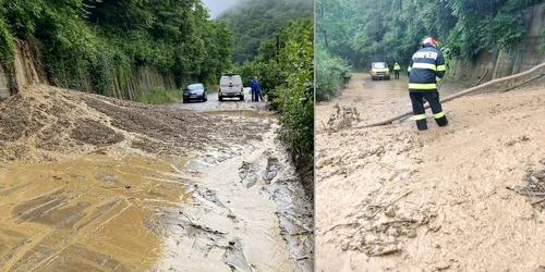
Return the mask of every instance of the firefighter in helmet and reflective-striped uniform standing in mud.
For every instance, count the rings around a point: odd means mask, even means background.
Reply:
[[[424,110],[425,100],[429,102],[437,125],[446,126],[448,124],[437,91],[437,82],[443,78],[445,71],[445,59],[437,49],[437,41],[432,37],[425,38],[422,41],[422,48],[412,55],[407,70],[409,96],[419,131],[427,129],[426,112]]]

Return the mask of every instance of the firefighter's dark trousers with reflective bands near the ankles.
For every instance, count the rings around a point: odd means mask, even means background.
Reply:
[[[414,120],[416,121],[416,127],[419,131],[427,129],[426,124],[426,112],[424,110],[423,98],[425,98],[429,102],[429,108],[432,108],[432,112],[434,113],[435,122],[439,126],[446,126],[448,124],[447,115],[443,112],[443,107],[439,102],[439,91],[437,89],[426,90],[423,92],[409,92],[411,97],[412,103],[412,112],[414,114]]]

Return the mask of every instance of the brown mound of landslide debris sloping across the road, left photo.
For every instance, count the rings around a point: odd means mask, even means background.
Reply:
[[[265,121],[264,121],[265,122]],[[0,161],[80,153],[187,156],[229,152],[267,125],[33,85],[0,102]]]

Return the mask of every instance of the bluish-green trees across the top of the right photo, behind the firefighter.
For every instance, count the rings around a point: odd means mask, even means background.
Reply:
[[[517,51],[525,33],[522,10],[540,0],[317,0],[316,42],[354,69],[385,54],[407,65],[420,41],[433,36],[452,58],[483,49]]]

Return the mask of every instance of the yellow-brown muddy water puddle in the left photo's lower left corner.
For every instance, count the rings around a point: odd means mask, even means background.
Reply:
[[[166,162],[85,157],[0,169],[1,271],[146,271],[161,254],[156,211],[184,196]]]

